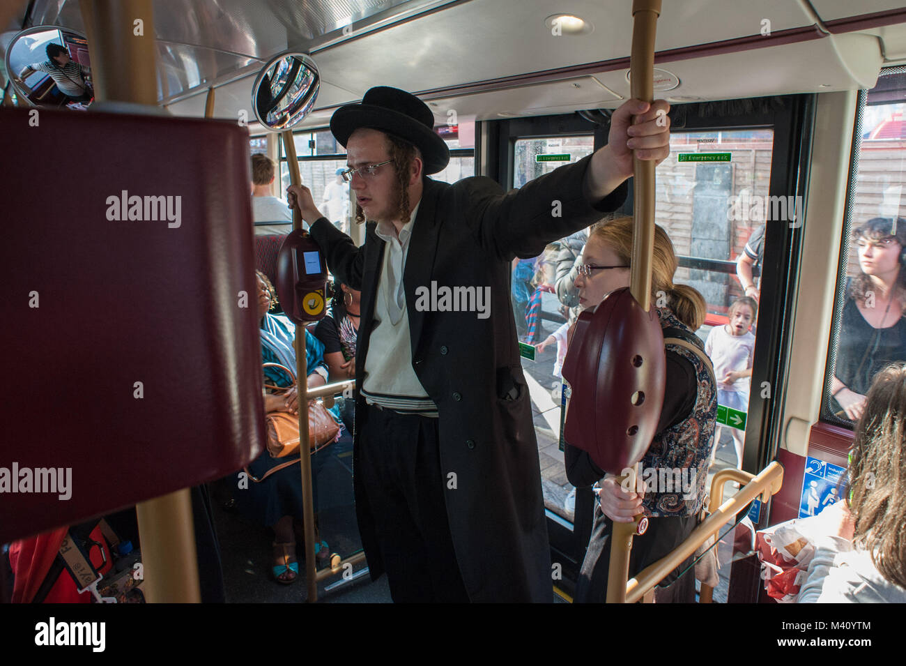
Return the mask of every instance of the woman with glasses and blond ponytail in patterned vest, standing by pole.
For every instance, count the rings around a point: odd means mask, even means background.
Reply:
[[[581,307],[595,307],[614,289],[630,285],[631,250],[631,217],[618,217],[593,230],[583,253],[585,263],[580,266],[575,281]],[[653,472],[652,486],[660,486],[656,479],[661,469],[679,470],[682,482],[679,488],[673,487],[675,477],[672,477],[670,487],[664,484],[664,487],[646,487],[643,492],[627,492],[616,477],[605,476],[588,453],[566,444],[566,476],[573,486],[590,486],[602,479],[599,487],[595,487],[598,506],[594,511],[591,542],[576,584],[577,603],[603,602],[606,597],[613,522],[631,522],[632,516],[638,514],[650,517],[648,531],[633,539],[630,576],[670,553],[699,523],[708,461],[714,446],[717,386],[703,345],[693,333],[704,322],[705,300],[692,287],[673,284],[677,265],[670,238],[661,227],[655,227],[651,306],[657,309],[665,338],[684,339],[699,351],[675,343],[666,345],[664,406],[651,447],[641,458],[640,474],[642,478],[651,478]],[[691,560],[689,557],[664,580],[663,585],[670,584],[668,589],[656,590],[658,603],[695,600],[694,574],[690,572],[676,581],[680,573],[689,569]]]

